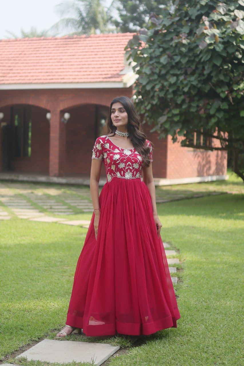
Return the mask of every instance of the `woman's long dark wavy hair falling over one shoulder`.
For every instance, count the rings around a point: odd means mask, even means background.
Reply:
[[[143,164],[145,167],[149,167],[149,153],[150,148],[146,145],[146,135],[143,132],[143,128],[141,126],[140,118],[136,112],[136,108],[134,107],[133,102],[128,97],[116,97],[112,100],[110,104],[110,115],[108,117],[108,130],[109,134],[113,133],[115,135],[115,131],[117,128],[113,126],[111,119],[111,110],[112,105],[114,103],[121,103],[126,110],[128,115],[128,132],[130,134],[130,139],[134,148],[138,151],[138,153],[143,158]]]

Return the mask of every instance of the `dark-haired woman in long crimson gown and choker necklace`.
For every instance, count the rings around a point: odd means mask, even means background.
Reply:
[[[111,102],[110,133],[93,147],[90,191],[94,213],[74,276],[64,337],[148,335],[180,318],[160,238],[152,147],[132,101]],[[99,196],[104,163],[107,183]],[[143,182],[141,180],[143,176]]]

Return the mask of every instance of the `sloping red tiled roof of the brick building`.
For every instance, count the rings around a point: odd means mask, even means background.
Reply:
[[[121,82],[133,33],[0,40],[0,84]]]

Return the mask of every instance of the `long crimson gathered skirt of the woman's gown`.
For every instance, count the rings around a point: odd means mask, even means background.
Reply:
[[[141,179],[113,179],[99,196],[74,276],[66,324],[87,336],[148,335],[180,318],[151,196]]]

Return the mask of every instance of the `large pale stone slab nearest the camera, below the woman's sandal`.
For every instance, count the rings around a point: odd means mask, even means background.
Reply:
[[[94,361],[94,366],[99,366],[119,348],[119,346],[104,343],[44,339],[16,358],[26,357],[28,361],[38,360],[58,363]]]

